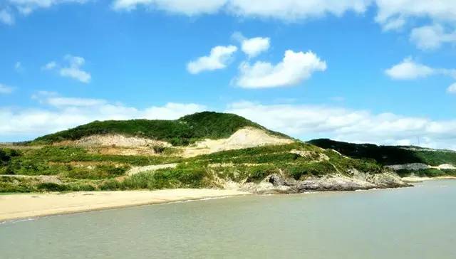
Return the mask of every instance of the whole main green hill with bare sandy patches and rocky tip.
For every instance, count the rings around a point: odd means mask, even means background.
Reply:
[[[0,147],[0,192],[237,189],[254,193],[408,186],[373,160],[343,157],[243,117],[91,122]]]

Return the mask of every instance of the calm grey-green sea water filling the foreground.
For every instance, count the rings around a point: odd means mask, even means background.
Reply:
[[[456,181],[0,224],[0,258],[456,258]]]

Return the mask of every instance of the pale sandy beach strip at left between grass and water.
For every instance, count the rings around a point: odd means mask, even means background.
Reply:
[[[79,191],[63,194],[7,194],[0,195],[0,221],[246,194],[249,193],[216,189]]]

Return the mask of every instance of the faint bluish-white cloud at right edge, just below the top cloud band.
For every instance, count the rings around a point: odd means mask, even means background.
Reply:
[[[434,50],[440,48],[443,43],[456,43],[456,31],[447,33],[439,24],[422,26],[412,30],[410,41],[420,49]]]

